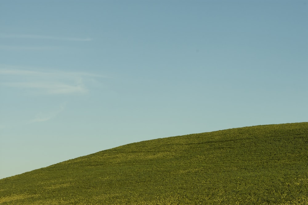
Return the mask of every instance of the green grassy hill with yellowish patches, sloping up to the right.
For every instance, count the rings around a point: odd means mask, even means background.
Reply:
[[[1,179],[0,204],[308,204],[308,123],[104,150]]]

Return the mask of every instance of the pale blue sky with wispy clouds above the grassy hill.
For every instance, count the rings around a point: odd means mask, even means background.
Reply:
[[[308,121],[307,0],[1,0],[0,179]]]

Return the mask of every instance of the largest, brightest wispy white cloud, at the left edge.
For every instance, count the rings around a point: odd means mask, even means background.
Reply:
[[[2,86],[39,91],[42,94],[87,93],[85,81],[91,82],[94,77],[105,77],[93,73],[18,69],[9,66],[0,66],[0,75],[10,76],[7,78],[10,80],[0,83]]]

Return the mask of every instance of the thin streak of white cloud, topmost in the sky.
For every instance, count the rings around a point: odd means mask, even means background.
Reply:
[[[28,38],[28,39],[47,39],[58,41],[92,41],[92,38],[76,38],[76,37],[56,37],[32,34],[0,34],[0,38]]]

